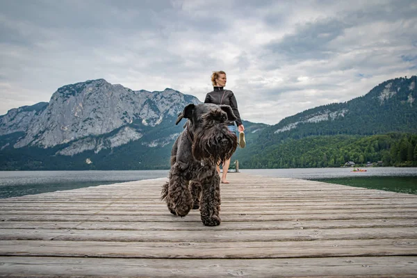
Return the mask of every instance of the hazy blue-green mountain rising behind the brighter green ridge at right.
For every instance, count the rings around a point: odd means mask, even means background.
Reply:
[[[337,104],[318,106],[268,126],[245,152],[236,154],[240,165],[254,167],[254,161],[271,157],[277,146],[312,136],[373,136],[391,132],[417,133],[417,77],[391,79],[366,95]],[[355,137],[356,138],[356,137]],[[329,140],[329,139],[324,139]],[[343,139],[345,140],[345,139]],[[305,140],[303,141],[305,143]],[[289,147],[289,146],[288,146]],[[295,149],[288,149],[289,153]],[[304,152],[307,150],[304,149]],[[280,151],[281,152],[281,151]],[[284,158],[283,158],[284,159]],[[268,163],[256,167],[270,167]],[[278,165],[278,164],[277,164]],[[279,166],[278,166],[279,167]]]

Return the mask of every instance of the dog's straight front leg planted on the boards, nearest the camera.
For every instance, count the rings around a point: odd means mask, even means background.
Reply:
[[[202,222],[206,226],[220,225],[220,177],[215,170],[202,181],[202,200],[200,212]]]

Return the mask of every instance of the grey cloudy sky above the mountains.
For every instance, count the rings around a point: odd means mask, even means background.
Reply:
[[[276,124],[416,75],[417,1],[0,0],[0,61],[0,115],[100,78],[204,101],[224,70]]]

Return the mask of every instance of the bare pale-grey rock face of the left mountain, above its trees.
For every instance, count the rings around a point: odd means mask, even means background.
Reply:
[[[197,98],[186,97],[170,88],[151,93],[133,91],[120,84],[112,85],[105,79],[88,80],[58,88],[49,104],[38,115],[32,113],[25,126],[10,129],[10,120],[3,120],[0,127],[5,130],[3,133],[6,130],[25,132],[14,147],[54,147],[106,133],[112,133],[109,145],[113,146],[115,138],[122,143],[138,140],[142,128],[156,126],[164,118],[176,116],[190,99],[199,103]],[[13,113],[10,113],[12,116]],[[121,135],[117,137],[113,134],[116,131],[120,131]]]

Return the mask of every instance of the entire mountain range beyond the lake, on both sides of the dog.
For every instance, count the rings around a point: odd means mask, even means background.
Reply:
[[[272,126],[244,121],[247,147],[232,160],[242,168],[336,167],[382,158],[415,165],[416,81],[391,79],[362,97]],[[168,169],[172,143],[183,130],[174,122],[190,103],[200,101],[170,88],[133,91],[104,79],[65,85],[49,103],[0,116],[0,170]],[[379,136],[392,132],[411,136]]]

